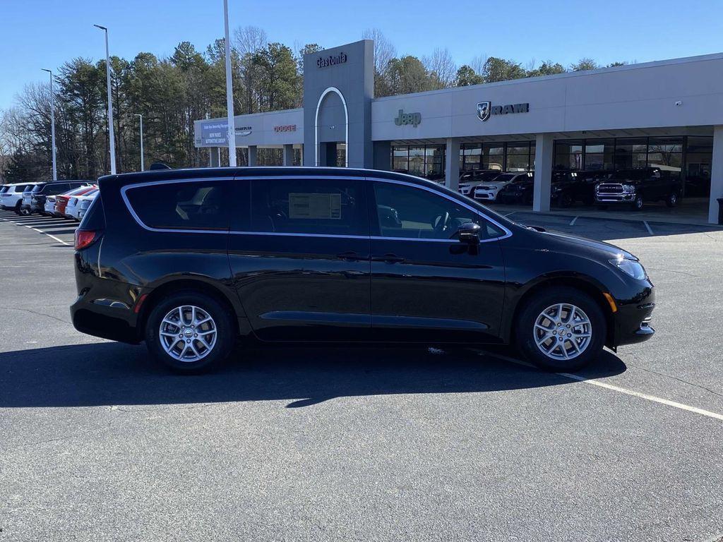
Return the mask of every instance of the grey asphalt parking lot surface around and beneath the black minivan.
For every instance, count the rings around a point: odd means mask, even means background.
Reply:
[[[73,223],[0,211],[0,542],[723,538],[723,231],[513,218],[641,257],[656,336],[568,376],[335,347],[179,377],[74,331]]]

